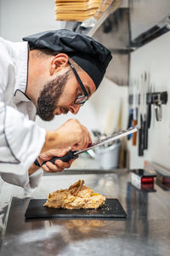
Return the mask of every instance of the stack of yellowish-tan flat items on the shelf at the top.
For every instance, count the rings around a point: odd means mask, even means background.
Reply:
[[[96,14],[102,0],[55,0],[55,20],[88,20]]]

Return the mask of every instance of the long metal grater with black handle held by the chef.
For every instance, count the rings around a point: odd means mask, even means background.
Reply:
[[[105,138],[97,140],[97,142],[90,144],[89,147],[86,149],[76,150],[76,151],[69,150],[64,156],[61,156],[61,157],[56,156],[48,161],[50,161],[53,164],[54,164],[55,160],[62,160],[63,162],[69,162],[70,160],[76,159],[79,154],[82,154],[90,149],[99,147],[105,143],[111,143],[117,139],[120,139],[121,137],[125,137],[129,134],[132,134],[133,132],[136,132],[136,131],[138,131],[137,125],[130,127],[127,130],[118,131],[118,132],[113,133],[111,136],[107,136]],[[45,165],[48,161],[43,162],[42,165]]]

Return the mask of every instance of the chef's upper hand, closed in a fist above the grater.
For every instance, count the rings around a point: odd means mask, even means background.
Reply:
[[[42,152],[51,148],[85,149],[88,148],[89,143],[91,143],[91,137],[88,129],[77,119],[68,119],[57,130],[47,131]]]

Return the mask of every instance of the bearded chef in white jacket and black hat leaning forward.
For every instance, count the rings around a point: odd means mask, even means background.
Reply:
[[[31,191],[42,171],[71,166],[71,161],[47,160],[91,142],[77,119],[45,131],[34,122],[36,114],[46,121],[69,111],[76,114],[99,87],[111,52],[93,38],[66,29],[23,40],[0,38],[0,175]]]

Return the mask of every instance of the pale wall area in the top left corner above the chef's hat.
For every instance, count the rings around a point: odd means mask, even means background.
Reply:
[[[65,22],[56,21],[54,0],[0,0],[0,34],[11,41],[26,35],[59,29]]]

